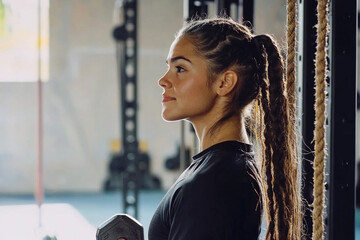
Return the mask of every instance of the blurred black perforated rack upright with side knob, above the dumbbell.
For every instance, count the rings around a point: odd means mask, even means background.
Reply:
[[[126,161],[123,174],[124,212],[138,217],[139,152],[137,138],[137,0],[123,0],[115,28],[121,92],[122,154]]]

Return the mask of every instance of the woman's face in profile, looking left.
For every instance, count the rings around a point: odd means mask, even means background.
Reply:
[[[206,118],[214,106],[216,93],[208,83],[207,62],[196,53],[189,38],[175,39],[166,63],[168,70],[159,79],[163,88],[163,119],[192,122]]]

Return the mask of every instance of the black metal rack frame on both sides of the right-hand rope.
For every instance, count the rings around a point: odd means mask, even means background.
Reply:
[[[302,62],[302,196],[304,203],[303,239],[311,239],[313,203],[312,149],[314,131],[314,77],[316,40],[316,1],[300,1],[299,12],[303,24]],[[355,134],[356,134],[356,72],[357,72],[357,3],[332,0],[330,8],[330,35],[327,79],[328,100],[328,171],[326,183],[327,209],[325,210],[326,239],[354,239],[355,212]],[[301,43],[300,43],[301,44]],[[300,80],[301,81],[301,80]]]

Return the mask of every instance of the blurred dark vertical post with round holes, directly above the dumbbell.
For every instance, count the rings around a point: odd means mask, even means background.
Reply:
[[[123,151],[127,161],[123,202],[126,213],[138,218],[139,164],[137,139],[137,0],[125,1],[125,75],[123,92]]]

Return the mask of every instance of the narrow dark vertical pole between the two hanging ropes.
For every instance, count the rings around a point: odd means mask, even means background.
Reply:
[[[303,24],[303,89],[302,89],[302,197],[304,212],[304,239],[312,236],[312,203],[313,203],[313,149],[314,149],[314,121],[315,121],[315,51],[316,51],[316,1],[303,1],[303,12],[299,12],[299,20]],[[301,43],[299,43],[301,44]]]

